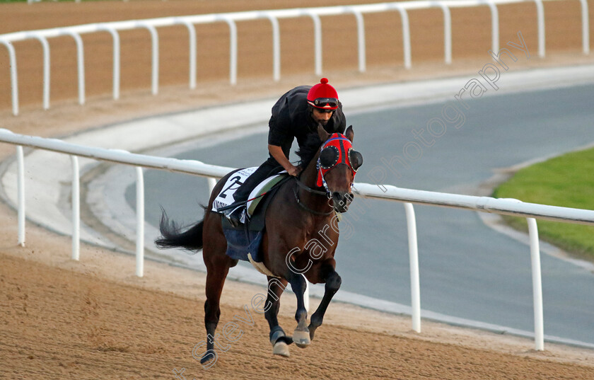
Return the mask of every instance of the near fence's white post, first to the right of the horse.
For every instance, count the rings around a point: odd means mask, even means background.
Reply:
[[[421,284],[419,280],[419,246],[417,244],[417,218],[412,203],[404,203],[407,214],[407,230],[410,261],[410,292],[412,309],[412,330],[421,332]]]

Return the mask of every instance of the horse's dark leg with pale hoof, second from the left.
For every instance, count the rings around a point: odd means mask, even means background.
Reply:
[[[286,336],[284,330],[279,326],[276,316],[279,315],[281,306],[281,294],[286,288],[286,280],[279,280],[268,276],[268,296],[264,306],[264,316],[270,326],[270,342],[272,343],[272,353],[289,357],[289,346],[293,340]]]

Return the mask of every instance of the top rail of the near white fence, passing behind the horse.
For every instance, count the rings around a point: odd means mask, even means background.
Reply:
[[[226,173],[233,170],[233,168],[209,165],[200,161],[133,154],[119,149],[95,148],[71,144],[59,139],[47,139],[43,137],[15,134],[8,129],[0,129],[0,142],[7,142],[21,146],[30,146],[33,148],[45,149],[49,151],[57,151],[63,154],[88,157],[102,161],[141,166],[144,168],[190,173],[204,177],[221,178],[223,175],[226,175]],[[458,195],[444,192],[413,190],[397,188],[392,185],[373,185],[371,183],[356,183],[354,188],[357,195],[368,198],[410,202],[419,205],[434,205],[458,209],[470,209],[480,212],[513,215],[516,217],[594,225],[594,210],[538,205],[535,203],[527,203],[511,199],[497,199],[492,197],[477,197],[472,195]]]

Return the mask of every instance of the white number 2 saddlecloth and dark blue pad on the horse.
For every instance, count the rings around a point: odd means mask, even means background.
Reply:
[[[222,207],[232,205],[233,193],[243,181],[257,168],[245,168],[231,173],[219,195],[216,196],[212,211],[219,212]],[[223,234],[227,239],[226,255],[234,260],[249,261],[257,270],[265,275],[272,275],[264,267],[264,258],[260,253],[262,236],[264,235],[266,209],[280,185],[291,178],[286,172],[272,175],[258,184],[250,193],[250,200],[242,216],[242,222],[234,227],[225,217],[221,217]],[[260,264],[260,265],[258,265]]]

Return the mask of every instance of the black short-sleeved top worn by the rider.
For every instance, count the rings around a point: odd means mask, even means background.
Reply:
[[[310,133],[318,133],[318,123],[310,116],[307,96],[311,86],[298,86],[285,93],[272,107],[272,117],[268,122],[268,144],[280,146],[289,158],[293,139],[301,147]],[[347,120],[342,113],[342,103],[332,113],[324,126],[328,133],[344,133]]]

